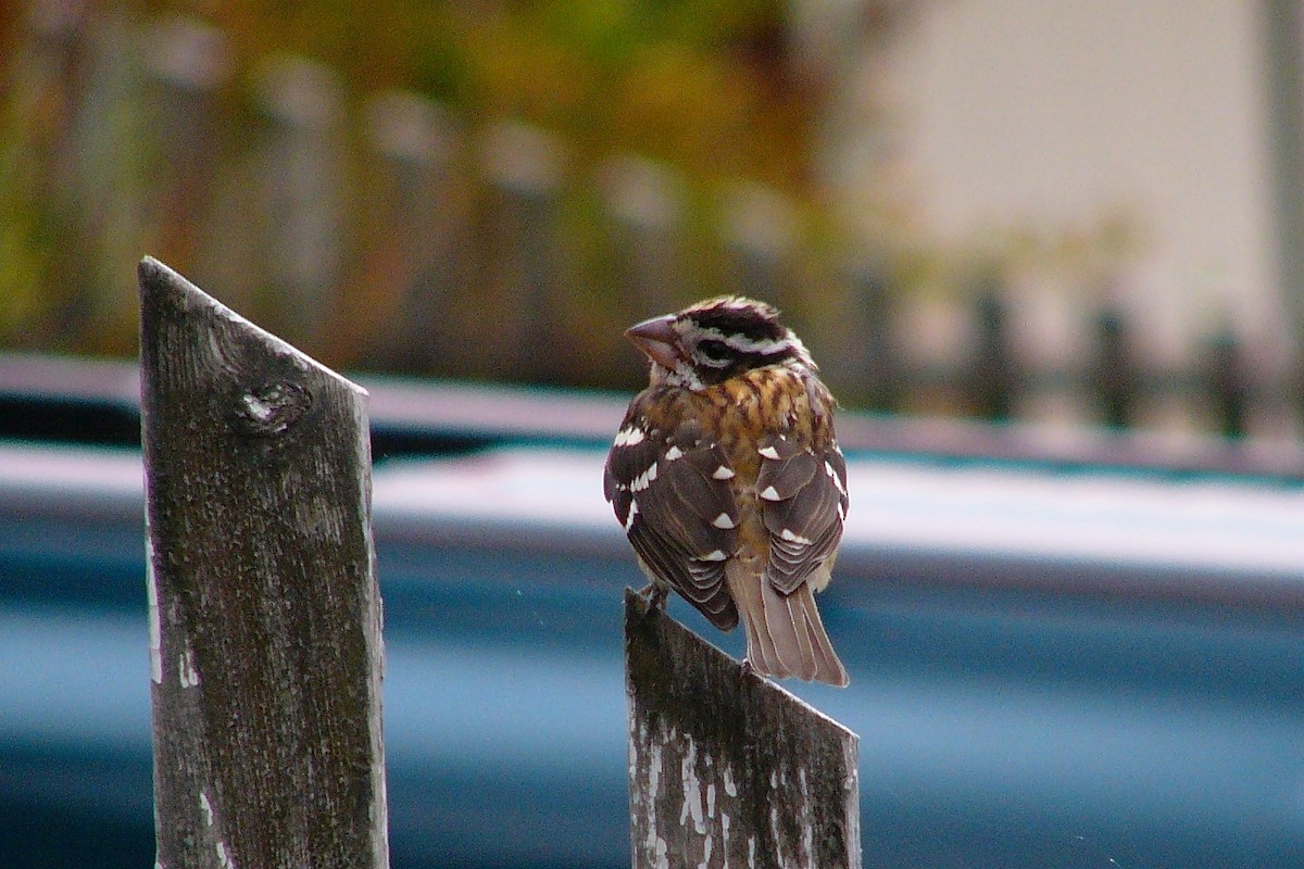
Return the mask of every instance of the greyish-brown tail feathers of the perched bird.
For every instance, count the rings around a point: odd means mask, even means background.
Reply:
[[[785,595],[751,572],[728,571],[726,578],[747,631],[747,662],[752,670],[840,688],[850,681],[824,632],[810,582]]]

